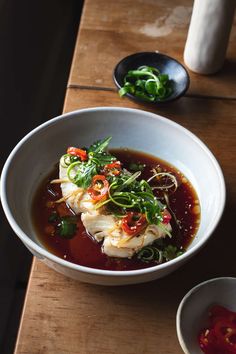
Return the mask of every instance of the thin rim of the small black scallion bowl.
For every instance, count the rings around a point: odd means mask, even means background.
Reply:
[[[148,101],[145,101],[145,100],[142,100],[130,93],[126,93],[125,96],[129,97],[130,99],[132,100],[135,100],[137,102],[143,102],[143,103],[146,103],[146,104],[151,104],[151,105],[156,105],[156,104],[164,104],[164,103],[168,103],[168,102],[172,102],[172,101],[175,101],[177,100],[178,98],[180,98],[181,96],[183,96],[187,90],[189,89],[189,86],[190,86],[190,75],[187,71],[187,69],[185,68],[185,66],[180,63],[177,59],[167,55],[167,54],[164,54],[164,53],[161,53],[161,52],[158,52],[158,51],[154,51],[154,52],[151,52],[151,51],[145,51],[145,52],[136,52],[136,53],[132,53],[132,54],[129,54],[127,55],[126,57],[122,58],[115,66],[114,70],[113,70],[113,81],[115,83],[115,85],[117,86],[118,89],[120,89],[122,86],[120,85],[120,83],[118,82],[118,79],[117,79],[117,70],[119,68],[119,66],[126,62],[128,59],[130,58],[135,58],[136,56],[139,56],[139,55],[156,55],[156,56],[159,56],[159,57],[164,57],[164,58],[167,58],[168,60],[170,61],[174,61],[175,63],[177,63],[179,66],[182,67],[183,71],[185,72],[186,74],[186,78],[187,78],[187,83],[186,83],[186,87],[184,88],[184,90],[182,92],[180,92],[177,96],[171,98],[171,96],[167,97],[165,100],[158,100],[158,101],[155,101],[155,102],[148,102]]]

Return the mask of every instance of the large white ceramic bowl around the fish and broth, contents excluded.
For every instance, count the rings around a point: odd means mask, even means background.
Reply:
[[[180,169],[191,181],[200,199],[201,223],[191,246],[182,256],[152,268],[106,271],[69,263],[40,244],[30,216],[32,198],[39,182],[48,175],[67,146],[88,146],[106,136],[112,136],[111,147],[128,147],[156,155]],[[207,171],[204,178],[202,171]],[[199,251],[222,215],[225,184],[215,157],[187,129],[145,111],[100,107],[59,116],[26,135],[4,165],[1,200],[14,232],[50,267],[81,281],[121,285],[163,277]]]

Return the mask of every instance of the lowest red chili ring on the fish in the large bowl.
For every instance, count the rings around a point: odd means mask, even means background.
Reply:
[[[139,234],[147,225],[145,215],[138,212],[128,212],[122,219],[122,229],[130,236]]]

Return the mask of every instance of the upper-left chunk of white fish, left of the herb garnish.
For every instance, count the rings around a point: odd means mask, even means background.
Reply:
[[[67,204],[76,213],[90,213],[98,214],[95,209],[95,203],[85,189],[77,187],[67,177],[67,168],[60,163],[59,178],[63,180],[61,183],[61,191],[63,198],[66,199]],[[65,182],[64,182],[65,181]]]

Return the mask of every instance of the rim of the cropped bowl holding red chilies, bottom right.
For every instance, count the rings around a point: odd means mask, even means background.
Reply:
[[[182,331],[181,331],[181,314],[183,311],[183,308],[186,304],[186,302],[191,298],[191,296],[196,293],[199,289],[208,286],[211,283],[218,283],[221,281],[234,281],[235,285],[236,285],[236,277],[230,277],[230,276],[226,276],[226,277],[216,277],[216,278],[212,278],[212,279],[208,279],[205,280],[197,285],[195,285],[193,288],[191,288],[182,298],[182,300],[179,303],[177,312],[176,312],[176,332],[177,332],[177,337],[180,343],[181,348],[183,349],[183,351],[185,353],[189,353],[189,350],[185,344],[185,340],[184,340],[184,336],[182,335]],[[200,349],[200,348],[199,348]]]

